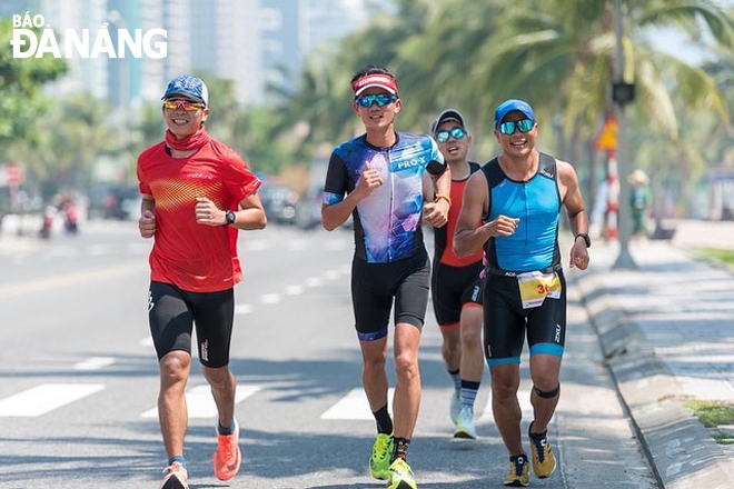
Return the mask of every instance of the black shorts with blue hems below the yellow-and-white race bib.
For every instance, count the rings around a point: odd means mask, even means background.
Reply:
[[[523,309],[516,277],[487,273],[484,288],[484,352],[489,367],[519,363],[527,332],[530,356],[563,357],[566,340],[566,279],[558,270],[561,297]]]

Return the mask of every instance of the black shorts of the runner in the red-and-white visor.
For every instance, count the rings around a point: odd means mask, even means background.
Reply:
[[[387,263],[351,262],[351,305],[360,341],[387,336],[395,300],[395,323],[423,328],[428,307],[430,260],[425,248],[413,257]]]

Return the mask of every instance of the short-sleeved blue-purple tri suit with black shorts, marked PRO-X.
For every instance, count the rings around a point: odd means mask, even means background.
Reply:
[[[428,136],[396,132],[389,148],[377,148],[365,134],[331,152],[324,203],[333,206],[357,187],[366,163],[383,184],[354,210],[355,257],[351,302],[361,341],[387,335],[395,298],[395,323],[421,328],[428,303],[430,265],[423,240],[423,176],[446,170],[444,157]]]

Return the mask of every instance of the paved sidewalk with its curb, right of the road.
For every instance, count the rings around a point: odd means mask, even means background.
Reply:
[[[734,487],[734,450],[683,405],[734,402],[734,275],[665,242],[633,243],[635,271],[611,271],[598,241],[574,273],[607,366],[666,488]]]

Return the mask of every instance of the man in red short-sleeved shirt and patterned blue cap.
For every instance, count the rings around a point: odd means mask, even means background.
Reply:
[[[242,279],[237,232],[262,229],[267,219],[256,193],[260,181],[237,152],[207,132],[208,104],[201,79],[185,74],[171,80],[163,94],[166,140],[138,158],[140,236],[155,237],[148,316],[160,368],[158,417],[169,458],[161,489],[188,488],[184,390],[195,323],[199,361],[219,411],[215,475],[229,480],[241,461],[236,380],[228,368],[232,288]]]

